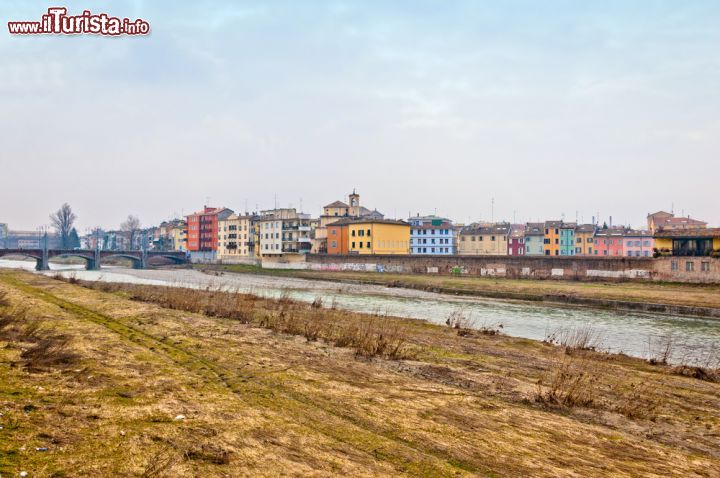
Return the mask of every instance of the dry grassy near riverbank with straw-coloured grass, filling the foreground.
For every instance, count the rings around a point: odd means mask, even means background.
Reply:
[[[0,473],[720,467],[720,384],[580,350],[582,337],[557,347],[471,331],[461,317],[450,328],[286,298],[86,286],[0,271]]]

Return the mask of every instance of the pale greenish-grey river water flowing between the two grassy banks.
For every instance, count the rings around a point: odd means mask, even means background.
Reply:
[[[35,262],[0,260],[0,267],[33,270]],[[186,269],[134,270],[107,267],[86,271],[83,266],[51,264],[54,272],[78,279],[237,290],[264,297],[283,294],[356,312],[423,319],[444,324],[461,314],[474,327],[492,327],[515,337],[544,340],[589,333],[600,350],[649,358],[671,344],[670,360],[720,366],[720,320],[672,315],[542,305],[511,300],[458,297],[411,289],[253,274],[209,275]],[[46,273],[48,274],[48,273]]]

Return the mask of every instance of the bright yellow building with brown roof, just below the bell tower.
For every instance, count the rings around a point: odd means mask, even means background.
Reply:
[[[348,254],[410,254],[410,224],[391,219],[342,219]]]

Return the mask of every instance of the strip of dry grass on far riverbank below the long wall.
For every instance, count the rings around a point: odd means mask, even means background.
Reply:
[[[249,265],[194,264],[206,272],[263,274],[279,277],[329,280],[348,284],[513,299],[576,304],[614,310],[720,318],[720,285],[662,282],[568,282],[488,277],[432,276],[376,272],[325,272],[263,269]]]

